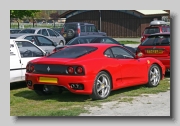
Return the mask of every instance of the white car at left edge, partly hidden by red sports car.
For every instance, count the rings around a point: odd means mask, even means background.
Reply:
[[[41,48],[26,39],[10,39],[10,83],[25,81],[30,60],[46,55]]]

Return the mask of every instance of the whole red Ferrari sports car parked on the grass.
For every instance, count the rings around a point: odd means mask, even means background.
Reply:
[[[37,94],[62,92],[105,99],[112,90],[143,85],[155,87],[165,67],[154,58],[138,58],[117,44],[78,44],[32,60],[26,67],[26,83]]]

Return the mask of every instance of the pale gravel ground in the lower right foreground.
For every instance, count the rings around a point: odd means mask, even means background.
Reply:
[[[86,108],[80,116],[170,116],[170,91],[135,97],[129,102],[107,102],[102,107]]]

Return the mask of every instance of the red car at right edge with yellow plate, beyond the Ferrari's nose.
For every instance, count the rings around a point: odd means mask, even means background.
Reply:
[[[170,32],[156,33],[148,36],[137,48],[142,57],[154,57],[160,60],[170,71]]]

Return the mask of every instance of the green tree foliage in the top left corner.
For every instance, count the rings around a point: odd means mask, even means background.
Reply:
[[[10,18],[34,17],[37,12],[40,10],[10,10]]]

